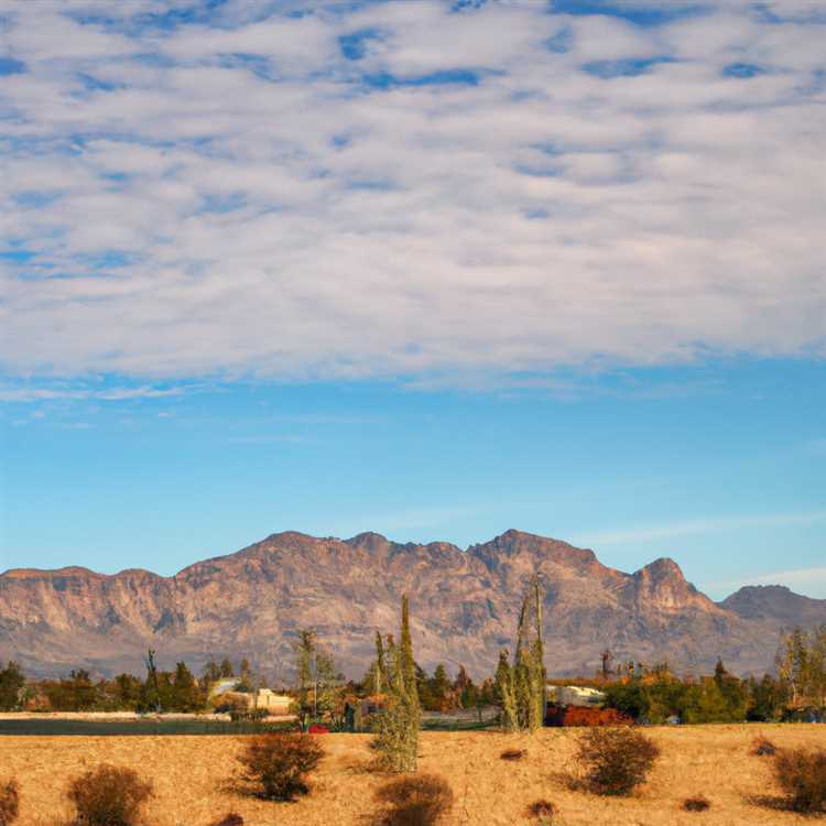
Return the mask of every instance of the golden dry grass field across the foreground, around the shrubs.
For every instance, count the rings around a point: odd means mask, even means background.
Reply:
[[[444,776],[456,795],[446,824],[530,824],[526,806],[554,802],[567,826],[665,824],[812,824],[812,818],[763,808],[749,795],[771,794],[771,758],[749,754],[758,733],[780,747],[826,747],[826,726],[697,726],[648,730],[662,757],[650,782],[629,798],[569,791],[559,773],[570,762],[577,731],[545,729],[535,737],[496,732],[428,732],[420,769]],[[368,826],[374,793],[385,778],[369,771],[369,737],[322,736],[327,750],[313,793],[297,803],[264,803],[221,789],[236,768],[242,738],[230,737],[2,737],[0,779],[22,787],[20,826],[56,826],[69,814],[69,778],[100,762],[129,765],[151,779],[156,797],[148,826],[207,826],[238,812],[250,826]],[[500,759],[507,748],[526,750],[519,761]],[[704,794],[711,808],[681,809]],[[816,820],[815,820],[816,822]],[[826,819],[824,820],[826,823]]]

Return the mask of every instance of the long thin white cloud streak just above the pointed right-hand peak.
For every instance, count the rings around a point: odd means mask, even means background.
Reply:
[[[630,528],[608,529],[587,532],[574,537],[574,542],[593,545],[620,545],[633,542],[691,536],[703,533],[722,533],[740,531],[748,528],[787,528],[807,525],[826,521],[826,510],[805,513],[773,513],[763,515],[739,515],[708,519],[692,519],[661,525],[634,525]]]

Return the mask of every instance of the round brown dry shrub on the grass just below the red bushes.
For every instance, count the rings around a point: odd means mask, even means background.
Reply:
[[[660,749],[630,728],[590,728],[577,742],[585,786],[596,794],[630,794],[645,782]]]

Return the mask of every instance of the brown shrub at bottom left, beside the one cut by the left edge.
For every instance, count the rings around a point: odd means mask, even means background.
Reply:
[[[138,772],[104,763],[69,783],[68,798],[77,809],[73,826],[135,826],[151,796],[152,784]]]

